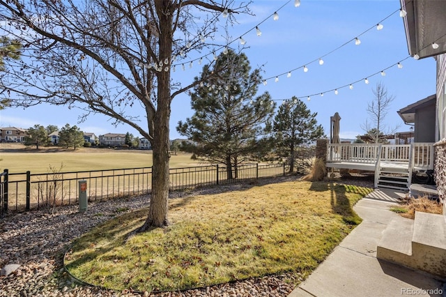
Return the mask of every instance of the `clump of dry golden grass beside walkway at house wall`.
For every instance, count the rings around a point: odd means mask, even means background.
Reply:
[[[404,218],[415,219],[415,211],[422,213],[436,213],[442,214],[443,207],[439,201],[429,199],[427,196],[417,198],[406,198],[402,201],[400,206],[390,208],[395,213],[400,213]]]

